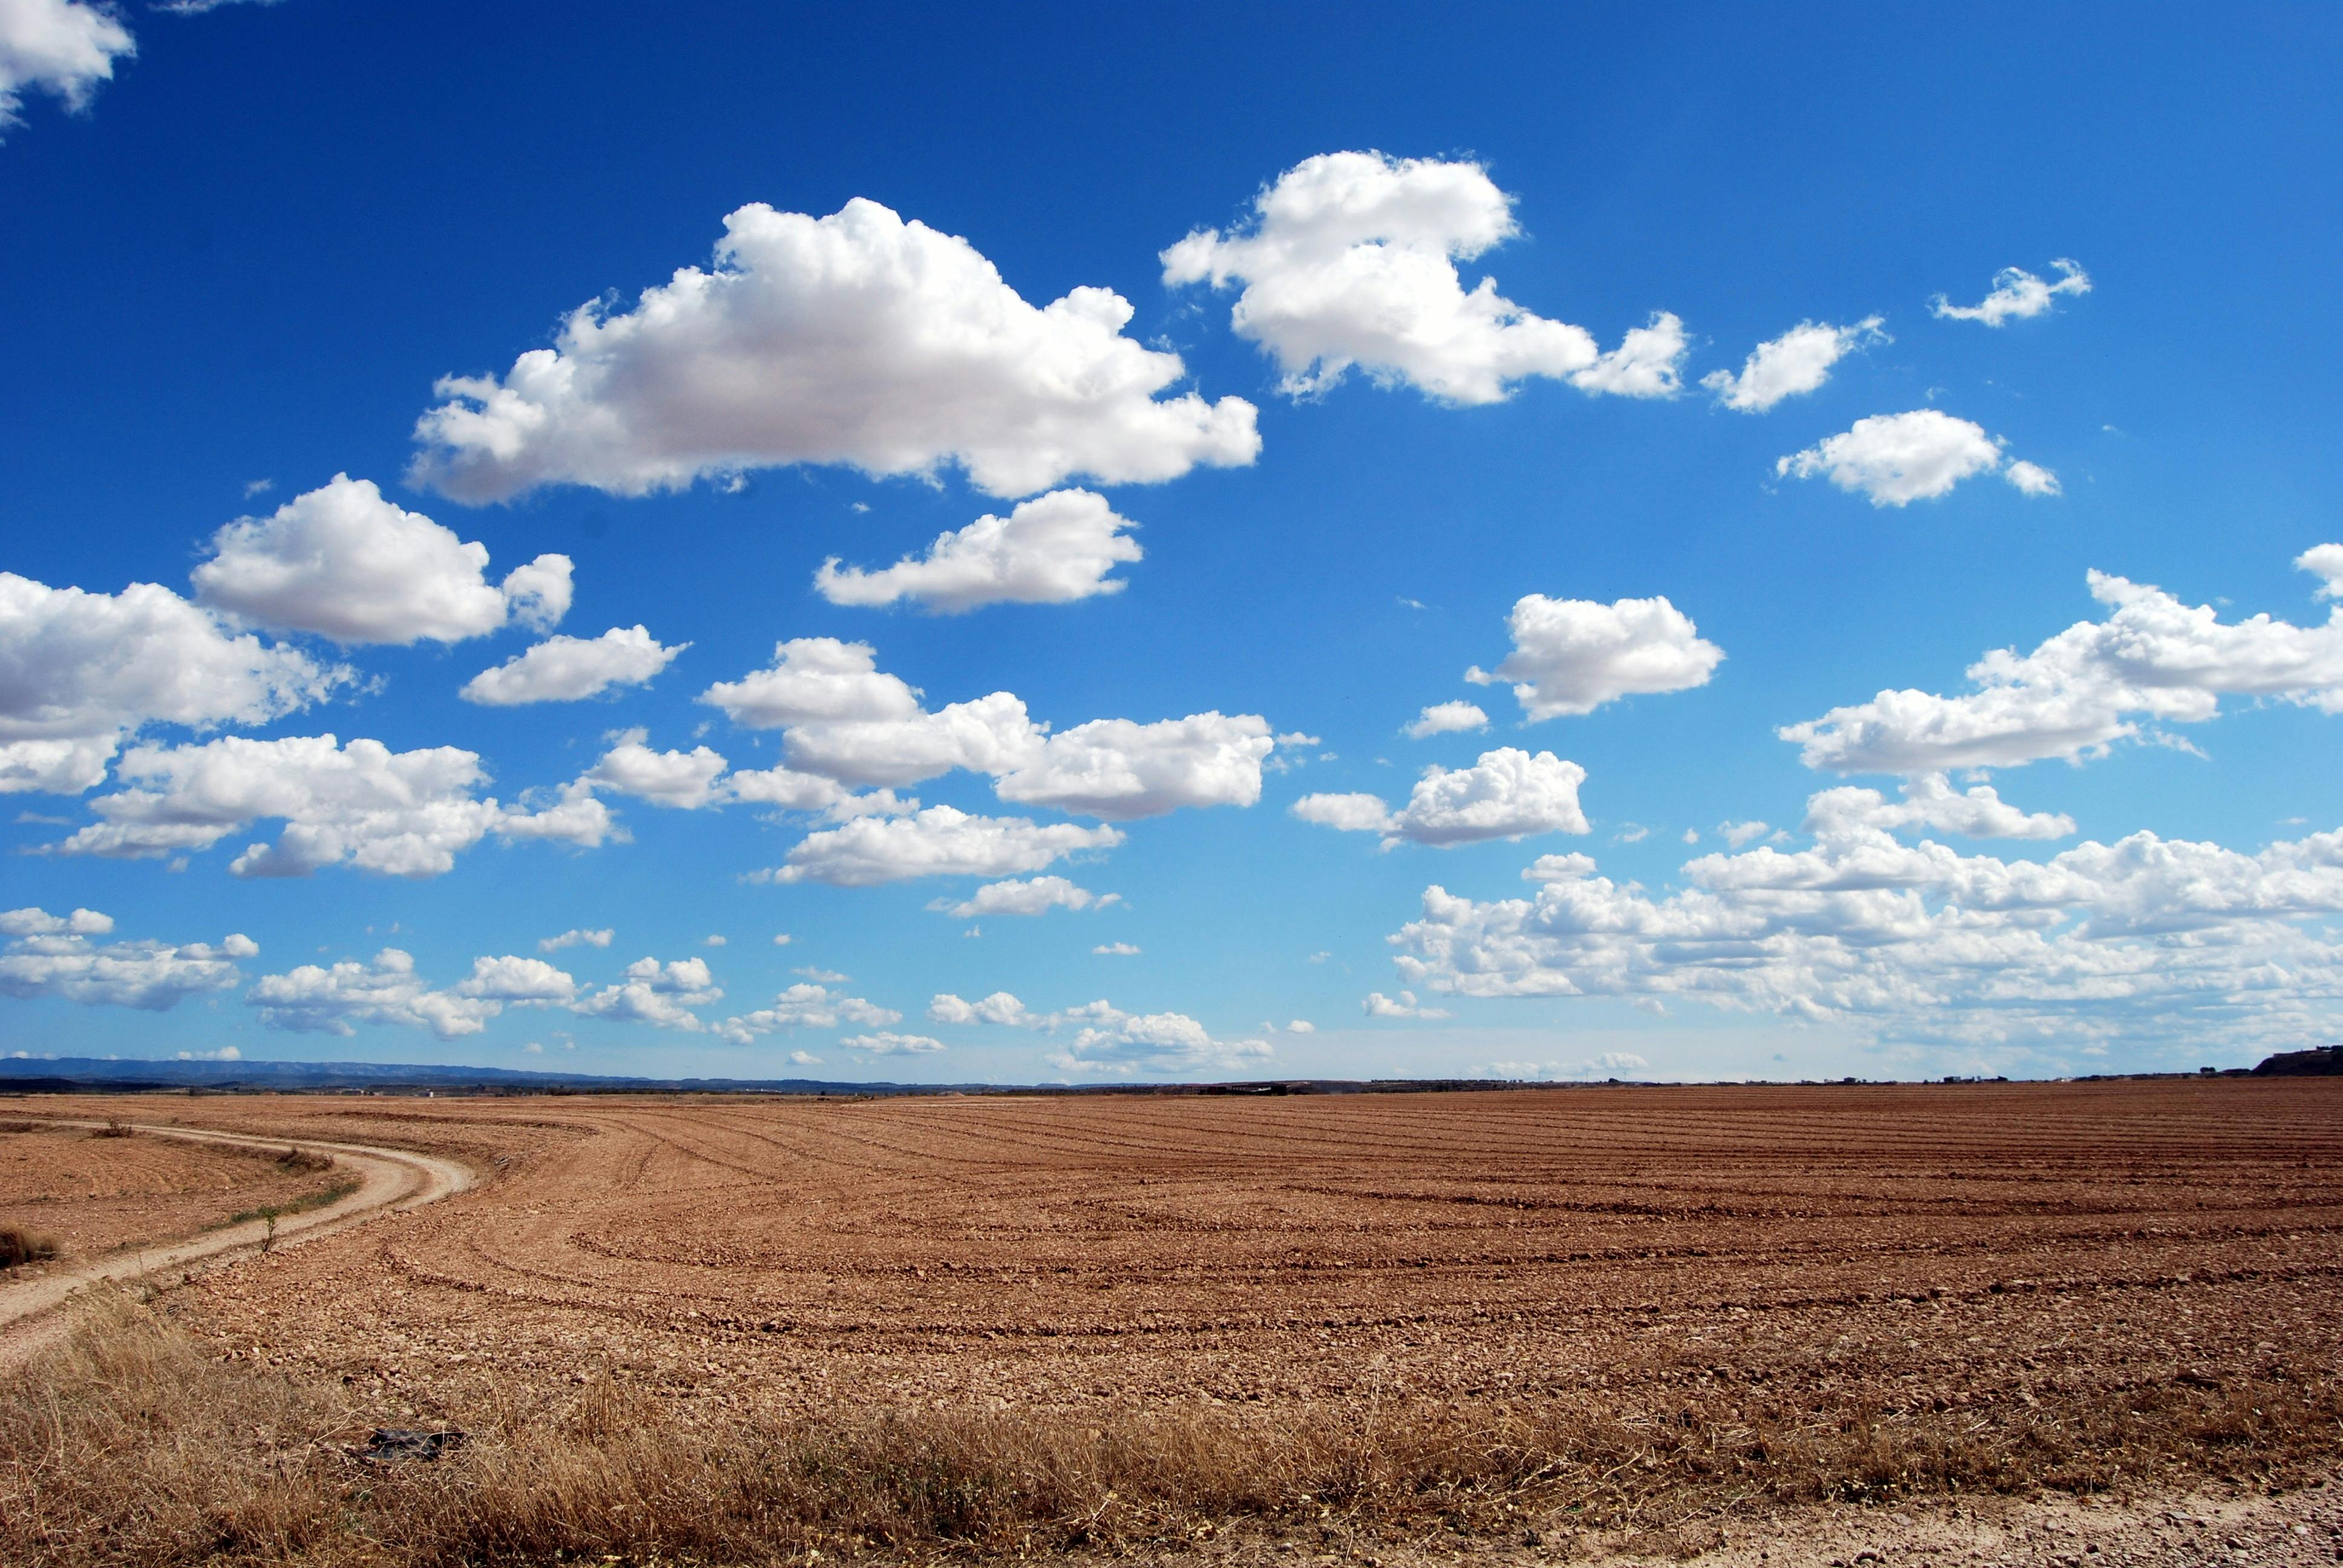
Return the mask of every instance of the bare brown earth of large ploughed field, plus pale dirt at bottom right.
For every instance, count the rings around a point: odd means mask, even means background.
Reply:
[[[682,1411],[1603,1402],[1720,1430],[2219,1399],[2343,1366],[2336,1080],[42,1109],[478,1170],[171,1296],[220,1355],[450,1420],[487,1366],[532,1388],[607,1366]],[[1382,1552],[2343,1561],[2336,1486],[2261,1495],[2249,1437],[2205,1474],[2184,1500]],[[1230,1552],[1256,1547],[1373,1561]]]

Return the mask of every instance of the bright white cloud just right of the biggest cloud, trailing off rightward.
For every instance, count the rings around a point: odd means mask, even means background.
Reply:
[[[1195,230],[1164,251],[1164,284],[1242,286],[1230,326],[1277,361],[1293,396],[1352,366],[1446,403],[1497,403],[1532,375],[1675,394],[1675,316],[1652,316],[1603,354],[1586,328],[1514,305],[1490,277],[1464,288],[1457,263],[1516,232],[1511,197],[1481,164],[1326,152],[1263,190],[1246,230]]]

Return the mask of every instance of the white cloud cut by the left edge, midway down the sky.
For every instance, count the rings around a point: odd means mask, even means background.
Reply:
[[[347,680],[157,584],[84,593],[0,572],[0,795],[77,795],[145,724],[265,724]]]

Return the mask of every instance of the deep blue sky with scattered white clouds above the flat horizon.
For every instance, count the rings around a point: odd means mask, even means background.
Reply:
[[[2336,1038],[2338,35],[0,0],[0,1041]]]

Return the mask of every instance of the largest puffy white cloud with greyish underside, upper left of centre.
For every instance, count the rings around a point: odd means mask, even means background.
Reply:
[[[1122,335],[1132,307],[1113,291],[1036,309],[965,239],[876,202],[829,218],[743,206],[715,260],[630,312],[579,307],[555,347],[501,380],[443,380],[448,401],[415,427],[415,478],[492,502],[553,483],[647,495],[797,462],[961,464],[989,495],[1031,495],[1261,450],[1244,398],[1157,396],[1186,368]]]

